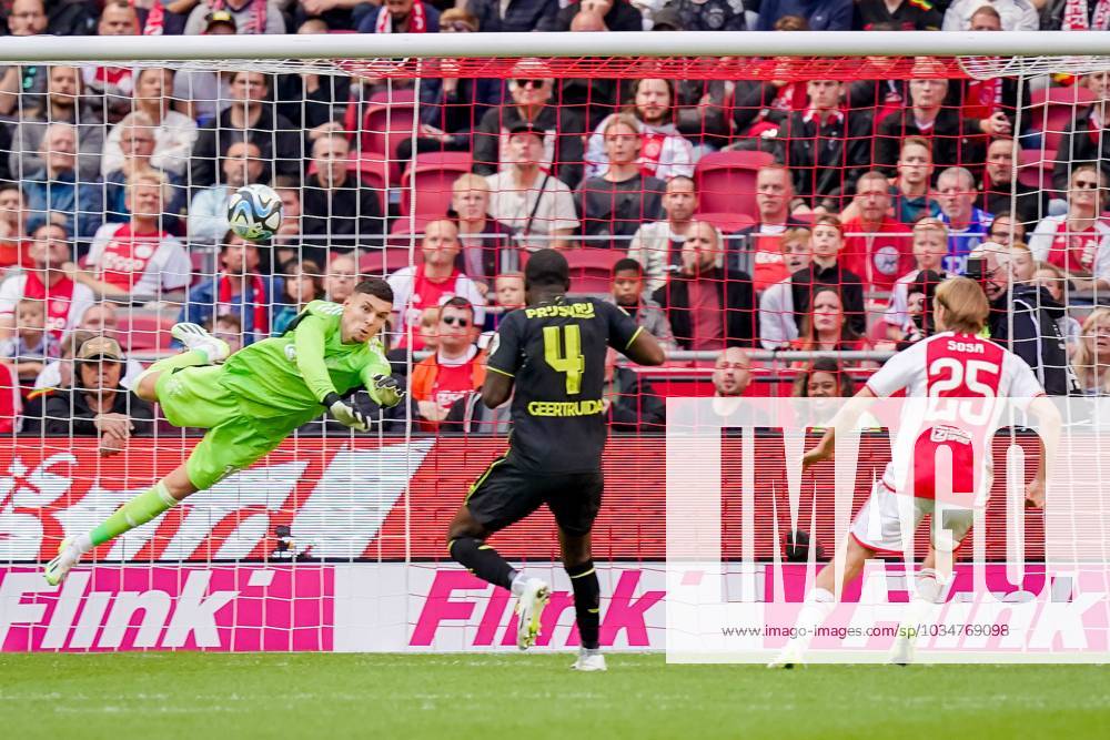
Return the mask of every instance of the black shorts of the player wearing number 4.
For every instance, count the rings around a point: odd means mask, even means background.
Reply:
[[[498,457],[466,497],[478,524],[491,533],[516,524],[544,504],[568,535],[588,535],[602,508],[605,487],[601,470],[543,474]]]

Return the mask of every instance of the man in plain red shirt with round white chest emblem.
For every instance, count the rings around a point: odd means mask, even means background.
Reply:
[[[887,178],[878,170],[856,181],[859,215],[844,224],[844,265],[859,275],[867,291],[889,291],[914,267],[909,229],[891,219]]]

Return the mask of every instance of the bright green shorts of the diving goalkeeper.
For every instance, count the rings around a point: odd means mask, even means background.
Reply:
[[[221,366],[167,371],[158,378],[158,403],[170,424],[208,429],[185,462],[189,479],[204,490],[250,467],[280,445],[291,429],[252,418],[220,383]]]

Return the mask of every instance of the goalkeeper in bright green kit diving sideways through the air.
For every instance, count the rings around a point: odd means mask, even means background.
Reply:
[[[60,584],[92,548],[250,467],[324,410],[347,427],[365,430],[365,415],[346,401],[352,391],[365,387],[384,407],[401,403],[404,389],[391,376],[379,338],[392,311],[389,283],[366,280],[342,304],[313,301],[280,337],[235,354],[200,326],[176,324],[172,333],[185,352],[151,365],[134,391],[144,401],[157,401],[174,426],[208,433],[189,459],[152,488],[92,531],[67,538],[46,567],[47,581]]]

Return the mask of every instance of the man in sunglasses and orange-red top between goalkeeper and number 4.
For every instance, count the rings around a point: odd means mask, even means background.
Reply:
[[[420,410],[421,429],[435,432],[460,398],[485,381],[485,357],[474,341],[474,306],[454,296],[440,306],[438,348],[413,368],[412,397]]]

